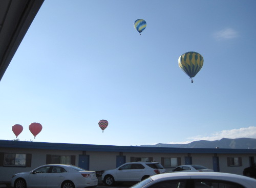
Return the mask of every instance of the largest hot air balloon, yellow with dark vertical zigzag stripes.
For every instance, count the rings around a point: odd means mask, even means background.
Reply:
[[[193,83],[193,77],[201,70],[204,64],[203,56],[195,51],[183,53],[178,60],[179,67],[190,77]]]

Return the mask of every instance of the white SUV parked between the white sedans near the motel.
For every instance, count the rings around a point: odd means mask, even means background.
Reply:
[[[104,184],[113,185],[115,182],[141,181],[164,172],[165,169],[158,162],[131,162],[116,169],[105,171],[101,178]]]

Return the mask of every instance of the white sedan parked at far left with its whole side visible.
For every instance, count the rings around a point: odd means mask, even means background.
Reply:
[[[30,172],[14,174],[11,185],[14,188],[82,188],[97,186],[98,178],[95,171],[87,171],[73,165],[43,165]]]

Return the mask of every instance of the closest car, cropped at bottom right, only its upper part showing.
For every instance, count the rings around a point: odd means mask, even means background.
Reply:
[[[151,176],[130,188],[255,188],[256,179],[221,172],[165,173]]]

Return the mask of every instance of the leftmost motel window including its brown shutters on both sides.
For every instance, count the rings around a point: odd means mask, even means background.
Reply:
[[[31,167],[31,154],[22,153],[0,153],[4,167]]]

